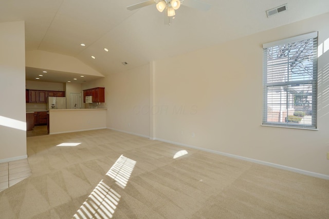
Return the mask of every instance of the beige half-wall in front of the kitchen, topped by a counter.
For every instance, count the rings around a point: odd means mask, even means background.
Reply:
[[[49,110],[49,134],[106,128],[107,109]]]

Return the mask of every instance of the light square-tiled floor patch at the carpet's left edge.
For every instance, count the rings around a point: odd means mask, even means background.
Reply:
[[[32,174],[27,159],[0,164],[0,192]]]

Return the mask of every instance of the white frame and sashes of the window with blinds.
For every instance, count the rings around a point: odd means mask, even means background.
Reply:
[[[273,48],[273,47],[278,47],[278,46],[283,46],[291,43],[297,43],[303,40],[307,39],[312,39],[313,43],[313,52],[312,52],[312,67],[313,67],[313,72],[312,72],[312,79],[300,79],[300,80],[293,80],[289,81],[289,79],[285,80],[284,82],[271,82],[268,83],[268,74],[273,74],[272,72],[268,72],[267,70],[267,65],[268,65],[268,60],[267,60],[267,55],[268,55],[268,49]],[[277,127],[284,127],[284,128],[297,128],[297,129],[312,129],[312,130],[317,130],[317,98],[318,98],[318,32],[311,32],[311,33],[306,33],[294,37],[289,37],[285,39],[281,39],[280,41],[275,41],[275,42],[270,42],[263,44],[263,118],[262,118],[262,125],[263,126],[277,126]],[[274,60],[274,59],[273,59]],[[278,60],[278,59],[277,59]],[[287,64],[289,64],[289,59]],[[289,70],[287,71],[289,75]],[[279,73],[279,72],[278,72]],[[280,75],[278,75],[280,76]],[[275,80],[273,80],[275,81]],[[289,122],[268,122],[268,101],[273,100],[273,98],[269,99],[268,98],[268,89],[269,88],[280,88],[282,89],[283,87],[287,87],[288,89],[292,86],[300,86],[304,85],[306,86],[307,84],[311,85],[311,90],[312,90],[312,124],[295,124],[295,123],[289,123]],[[303,90],[304,91],[304,90]],[[281,92],[281,91],[280,91]],[[286,91],[287,92],[287,91]],[[281,93],[280,93],[281,95]],[[289,94],[291,95],[291,94]],[[286,94],[288,96],[288,94]],[[286,97],[288,98],[288,97]],[[286,101],[284,104],[284,101],[281,101],[280,99],[280,106],[284,105],[286,107],[286,116],[288,117],[288,106],[289,106],[289,101]],[[296,106],[296,105],[295,105]],[[281,108],[281,107],[280,107]],[[281,109],[280,109],[281,110]],[[281,111],[279,112],[281,113]]]

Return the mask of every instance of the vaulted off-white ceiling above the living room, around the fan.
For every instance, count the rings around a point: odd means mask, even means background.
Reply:
[[[107,75],[329,12],[328,0],[199,0],[209,11],[185,0],[169,26],[155,5],[126,9],[143,1],[0,0],[0,22],[25,21],[26,50],[74,56]],[[285,3],[287,11],[267,18]]]

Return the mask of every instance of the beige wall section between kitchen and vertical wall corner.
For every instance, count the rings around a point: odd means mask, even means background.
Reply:
[[[105,78],[107,128],[150,136],[149,65]]]

